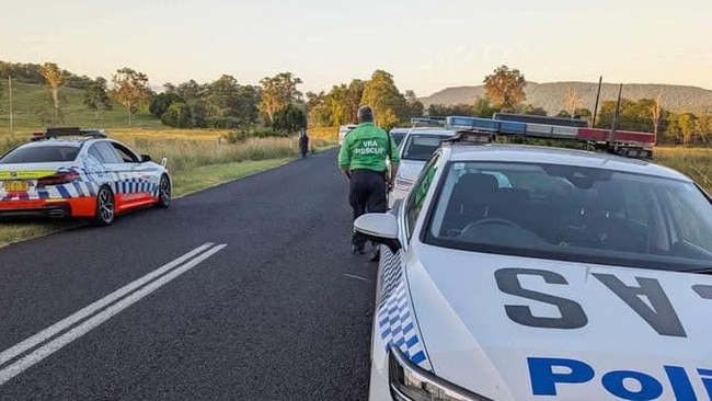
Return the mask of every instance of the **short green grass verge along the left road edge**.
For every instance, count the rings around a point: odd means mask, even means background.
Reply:
[[[174,198],[206,190],[225,182],[283,165],[294,157],[206,165],[173,175]],[[120,217],[119,217],[120,218]],[[120,221],[119,221],[120,224]],[[42,220],[0,224],[0,247],[81,226],[79,220]]]

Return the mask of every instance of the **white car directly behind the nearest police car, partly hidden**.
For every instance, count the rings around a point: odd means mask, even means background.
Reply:
[[[399,146],[401,162],[398,167],[393,191],[388,196],[389,209],[395,202],[405,197],[425,161],[440,147],[440,142],[452,137],[452,129],[415,127],[405,134]]]

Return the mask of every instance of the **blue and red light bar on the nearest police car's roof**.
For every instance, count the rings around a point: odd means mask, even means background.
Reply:
[[[595,144],[597,148],[605,148],[610,152],[630,158],[652,158],[652,147],[655,146],[655,134],[629,130],[616,130],[612,134],[609,129],[600,128],[582,128],[464,116],[447,117],[446,127],[469,131],[467,137],[458,137],[457,139],[453,137],[455,140],[481,144],[485,141],[484,138],[489,138],[486,141],[493,141],[497,135],[575,140]]]

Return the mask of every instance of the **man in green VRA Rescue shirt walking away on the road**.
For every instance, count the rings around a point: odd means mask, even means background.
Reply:
[[[374,110],[360,106],[356,114],[358,126],[354,128],[338,150],[338,168],[349,181],[348,203],[354,209],[354,220],[365,213],[386,211],[386,182],[388,191],[393,187],[401,159],[390,135],[374,124]],[[391,160],[387,171],[386,159]],[[365,253],[366,239],[358,232],[352,237],[352,252]],[[378,254],[375,254],[375,259]]]

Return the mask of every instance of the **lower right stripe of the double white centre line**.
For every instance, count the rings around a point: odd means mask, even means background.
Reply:
[[[103,322],[107,321],[111,319],[113,316],[116,313],[120,312],[122,310],[130,307],[131,305],[138,302],[141,300],[143,297],[147,295],[153,293],[154,290],[161,288],[162,286],[166,285],[168,283],[172,282],[174,278],[177,276],[182,275],[183,273],[190,271],[191,268],[197,266],[200,262],[205,261],[206,259],[213,256],[214,254],[218,253],[220,250],[222,250],[227,244],[220,244],[217,245],[209,251],[203,253],[202,255],[195,257],[191,262],[187,262],[186,264],[182,265],[181,267],[177,267],[176,270],[168,273],[166,275],[160,277],[159,279],[150,283],[146,287],[137,290],[136,293],[129,295],[128,297],[122,299],[120,301],[112,305],[111,307],[106,308],[105,310],[101,311],[100,313],[96,313],[94,317],[90,318],[85,322],[79,324],[78,326],[71,329],[70,331],[66,332],[65,334],[58,336],[57,339],[50,341],[49,343],[43,345],[42,347],[35,350],[33,353],[31,353],[27,356],[24,356],[22,359],[13,363],[12,365],[8,366],[7,368],[3,368],[0,370],[0,386],[4,385],[8,382],[8,380],[12,379],[13,377],[20,375],[27,368],[32,367],[33,365],[37,364],[42,359],[46,358],[47,356],[54,354],[55,352],[61,350],[65,345],[70,344],[72,341],[81,337],[82,335],[89,333],[92,329],[99,326]]]

